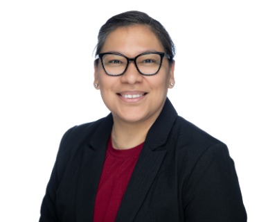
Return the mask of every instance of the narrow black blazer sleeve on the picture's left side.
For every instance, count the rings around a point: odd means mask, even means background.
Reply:
[[[50,180],[48,181],[48,185],[46,187],[46,194],[42,200],[42,206],[40,210],[40,218],[39,222],[55,222],[58,221],[58,216],[56,212],[56,190],[60,184],[60,180],[66,169],[66,164],[69,162],[69,157],[71,155],[71,151],[66,146],[66,139],[69,137],[73,128],[69,129],[64,133],[62,140],[60,142],[60,148],[57,152],[57,157],[55,160],[55,164],[51,173]]]

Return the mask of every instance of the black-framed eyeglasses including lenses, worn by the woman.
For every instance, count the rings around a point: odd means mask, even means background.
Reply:
[[[129,62],[134,62],[136,70],[143,76],[153,76],[161,69],[163,57],[172,60],[170,56],[162,52],[141,53],[135,58],[128,58],[120,53],[99,53],[102,68],[109,76],[122,76],[127,71]]]

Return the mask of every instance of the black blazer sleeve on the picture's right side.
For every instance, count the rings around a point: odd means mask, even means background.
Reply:
[[[184,189],[186,221],[247,221],[235,165],[225,144],[215,144],[199,157]]]

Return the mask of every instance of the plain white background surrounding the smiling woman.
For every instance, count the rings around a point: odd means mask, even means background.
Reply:
[[[63,133],[104,117],[93,49],[143,10],[177,46],[177,112],[229,146],[249,221],[277,221],[276,1],[1,1],[0,221],[38,221]]]

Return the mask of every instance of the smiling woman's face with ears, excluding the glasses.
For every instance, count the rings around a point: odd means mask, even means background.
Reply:
[[[116,52],[134,58],[149,51],[165,52],[148,26],[136,25],[120,27],[111,32],[101,53]],[[99,85],[102,100],[113,114],[114,121],[153,123],[166,101],[170,83],[175,83],[174,66],[174,62],[170,66],[168,59],[163,58],[156,75],[142,76],[134,62],[129,62],[123,76],[108,76],[99,60],[95,67],[94,83]]]

